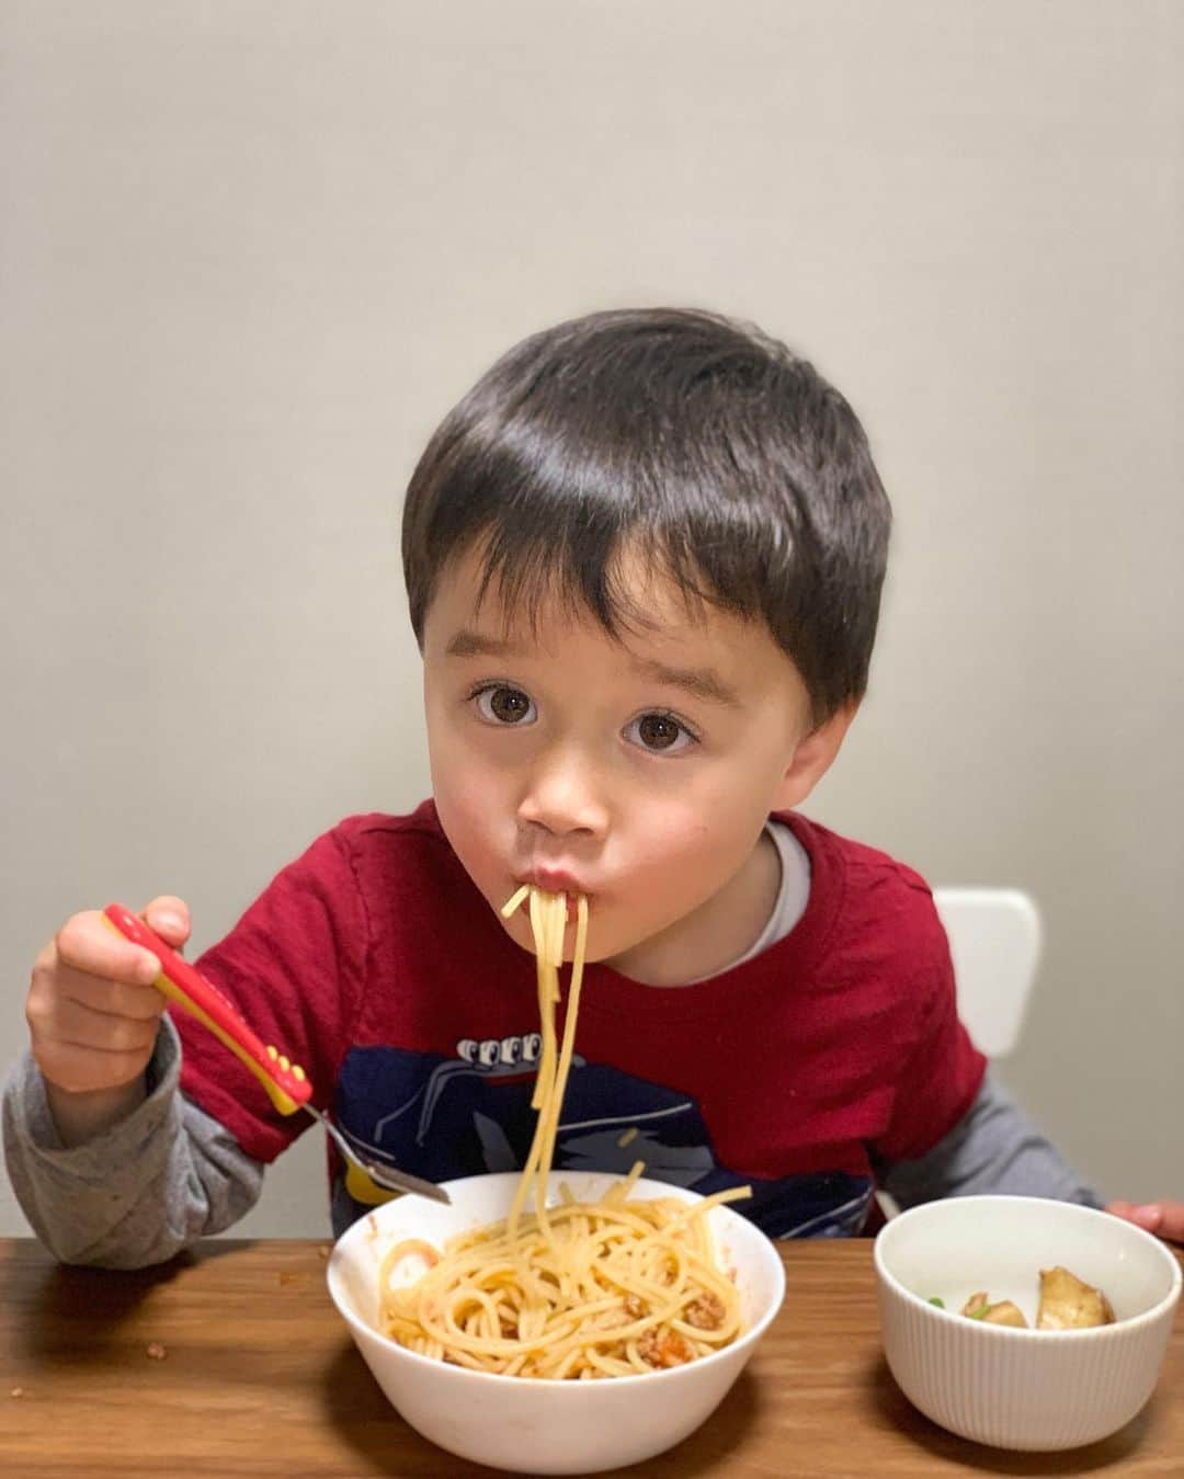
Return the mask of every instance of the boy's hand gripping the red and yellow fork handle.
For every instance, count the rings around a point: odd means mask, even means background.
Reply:
[[[179,950],[189,938],[182,899],[152,899],[140,918]],[[33,1056],[65,1145],[114,1124],[145,1094],[164,995],[157,957],[96,910],[74,914],[37,957],[25,1004]]]

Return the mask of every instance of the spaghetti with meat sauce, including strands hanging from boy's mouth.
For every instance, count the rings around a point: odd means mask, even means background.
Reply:
[[[588,904],[576,901],[559,1043],[554,1012],[568,899],[523,887],[503,913],[511,914],[528,895],[542,1046],[526,1165],[504,1222],[451,1238],[443,1254],[420,1239],[390,1250],[380,1272],[383,1334],[420,1355],[503,1375],[591,1380],[683,1365],[741,1333],[739,1296],[715,1263],[705,1214],[749,1191],[732,1188],[693,1204],[673,1197],[630,1201],[643,1170],[637,1161],[600,1201],[579,1202],[563,1186],[559,1204],[547,1207],[575,1050]],[[392,1285],[408,1260],[426,1272],[412,1284]]]

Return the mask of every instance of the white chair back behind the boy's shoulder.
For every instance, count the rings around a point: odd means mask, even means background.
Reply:
[[[1010,1053],[1041,958],[1041,916],[1020,889],[934,889],[949,938],[958,1015],[987,1057]]]

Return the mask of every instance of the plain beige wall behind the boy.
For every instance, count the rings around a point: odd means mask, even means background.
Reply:
[[[0,1056],[72,910],[177,890],[208,944],[418,800],[424,436],[532,328],[696,303],[846,389],[897,512],[810,809],[1036,895],[1004,1077],[1107,1191],[1184,1197],[1178,4],[0,15]],[[325,1228],[290,1160],[250,1231]]]

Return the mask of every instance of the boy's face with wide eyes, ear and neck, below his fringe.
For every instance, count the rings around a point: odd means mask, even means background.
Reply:
[[[587,895],[588,958],[634,979],[724,967],[776,898],[766,816],[810,791],[848,716],[814,731],[764,626],[692,614],[640,566],[652,626],[622,640],[559,606],[535,637],[495,587],[477,609],[480,574],[454,561],[424,627],[433,793],[470,877],[498,917],[522,883]],[[525,910],[504,926],[532,950]]]

